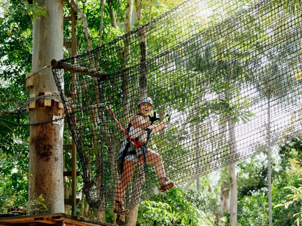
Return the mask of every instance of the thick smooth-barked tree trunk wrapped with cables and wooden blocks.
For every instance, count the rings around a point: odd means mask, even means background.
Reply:
[[[32,71],[39,71],[50,64],[52,59],[63,58],[63,0],[37,1],[46,7],[46,17],[33,23]],[[41,96],[45,92],[58,93],[51,69],[34,76],[34,87],[30,94]],[[64,110],[51,101],[51,107],[37,101],[36,108],[30,110],[30,122],[50,121],[53,115],[62,117]],[[29,206],[29,215],[64,212],[63,187],[63,121],[57,124],[43,124],[30,128],[29,157],[29,201],[41,194],[47,210],[39,211],[40,205]],[[35,210],[36,209],[36,210]]]

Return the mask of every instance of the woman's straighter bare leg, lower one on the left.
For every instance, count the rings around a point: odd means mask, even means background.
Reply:
[[[117,191],[116,191],[116,200],[118,202],[122,201],[122,197],[124,196],[124,191],[127,188],[132,178],[135,164],[136,163],[132,161],[127,161],[127,160],[124,161],[121,183],[117,185]]]

